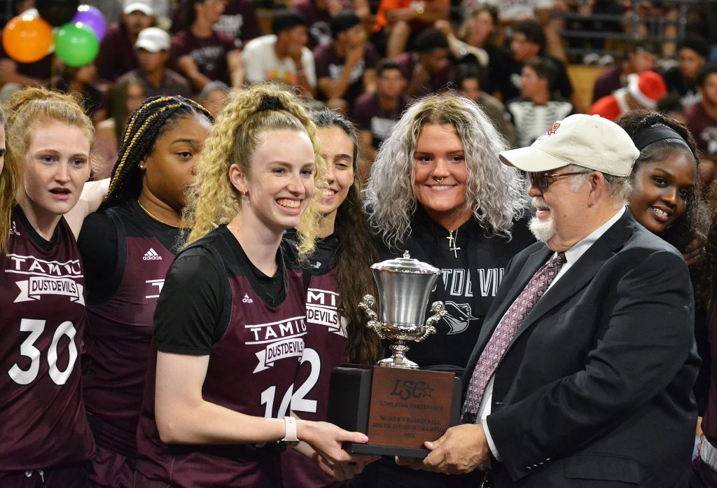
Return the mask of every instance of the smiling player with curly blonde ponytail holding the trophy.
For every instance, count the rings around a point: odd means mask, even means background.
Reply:
[[[299,259],[313,252],[324,173],[315,126],[289,92],[236,92],[219,115],[189,193],[189,244],[154,316],[137,487],[281,487],[277,443],[339,478],[362,469],[341,443],[364,434],[289,408],[306,313],[282,238],[296,227]]]

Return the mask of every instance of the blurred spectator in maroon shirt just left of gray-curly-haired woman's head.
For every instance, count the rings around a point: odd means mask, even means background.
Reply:
[[[353,107],[353,119],[359,126],[361,154],[369,165],[410,101],[404,95],[406,78],[397,62],[382,59],[376,67],[376,74],[376,91],[359,97]],[[368,174],[369,167],[361,168],[362,176]]]

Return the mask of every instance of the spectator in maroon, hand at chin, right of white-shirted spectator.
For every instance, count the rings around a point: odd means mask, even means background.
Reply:
[[[348,113],[364,92],[376,89],[376,49],[366,42],[359,16],[343,10],[331,19],[333,42],[314,49],[320,100],[326,106]]]

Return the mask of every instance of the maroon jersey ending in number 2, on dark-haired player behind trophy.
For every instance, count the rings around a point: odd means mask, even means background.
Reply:
[[[304,353],[294,381],[291,409],[300,418],[326,421],[331,370],[346,363],[346,325],[338,315],[338,282],[330,271],[338,242],[328,236],[317,242],[311,257],[311,280],[306,295]],[[340,484],[321,471],[313,459],[293,449],[282,453],[285,487],[335,487]]]

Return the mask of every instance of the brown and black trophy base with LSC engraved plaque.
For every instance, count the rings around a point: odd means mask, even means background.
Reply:
[[[343,444],[356,454],[424,458],[460,423],[461,381],[452,373],[407,368],[340,367],[331,372],[327,421],[364,432],[367,444]]]

